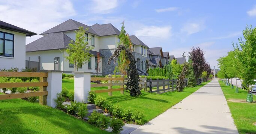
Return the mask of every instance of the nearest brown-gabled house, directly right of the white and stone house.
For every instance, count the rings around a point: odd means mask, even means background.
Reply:
[[[162,64],[162,58],[163,58],[162,47],[149,48],[147,55],[148,55],[147,57],[148,57],[149,68],[164,66],[164,64]]]

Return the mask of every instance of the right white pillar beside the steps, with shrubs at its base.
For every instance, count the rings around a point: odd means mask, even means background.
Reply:
[[[75,101],[88,102],[88,92],[91,90],[91,73],[72,72],[75,74]]]

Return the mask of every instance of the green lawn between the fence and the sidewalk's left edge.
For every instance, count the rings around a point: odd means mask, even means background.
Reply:
[[[67,85],[67,80],[63,80],[63,87],[71,87],[69,90],[73,90],[74,85],[71,80],[68,80],[70,85]],[[157,117],[158,115],[165,112],[171,106],[180,102],[182,99],[186,98],[200,87],[204,86],[208,82],[202,83],[198,87],[185,88],[184,92],[167,92],[163,94],[148,93],[142,91],[142,95],[139,97],[131,97],[128,92],[124,92],[122,95],[119,91],[112,92],[112,96],[108,96],[108,93],[97,93],[96,95],[103,96],[110,100],[114,105],[121,105],[124,109],[138,109],[144,112],[143,123],[150,121],[151,119]],[[72,84],[72,85],[71,85]],[[117,86],[118,87],[118,86]],[[102,89],[107,89],[107,87],[101,87]],[[96,90],[96,88],[91,88],[91,90]],[[99,87],[97,88],[99,90]]]

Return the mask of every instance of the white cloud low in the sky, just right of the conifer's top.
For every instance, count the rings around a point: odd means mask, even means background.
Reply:
[[[171,36],[171,26],[144,26],[135,31],[136,36],[150,36],[156,38],[168,38]]]

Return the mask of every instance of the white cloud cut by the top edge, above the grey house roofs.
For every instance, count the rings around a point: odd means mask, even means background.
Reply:
[[[93,0],[91,11],[93,13],[111,13],[118,6],[117,0]]]

